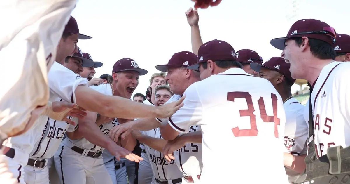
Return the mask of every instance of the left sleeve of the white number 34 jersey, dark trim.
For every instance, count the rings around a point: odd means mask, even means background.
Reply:
[[[169,118],[169,125],[180,133],[187,134],[190,127],[199,125],[203,116],[203,106],[196,85],[189,86],[184,95],[184,105]]]

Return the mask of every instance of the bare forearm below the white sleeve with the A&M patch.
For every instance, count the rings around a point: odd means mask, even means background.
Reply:
[[[303,173],[306,168],[305,157],[306,155],[294,156],[289,153],[283,153],[283,164],[295,172]]]

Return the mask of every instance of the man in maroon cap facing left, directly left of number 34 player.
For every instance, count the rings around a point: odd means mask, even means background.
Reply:
[[[197,56],[195,54],[184,51],[175,53],[169,60],[168,64],[156,66],[158,70],[168,72],[166,80],[169,83],[171,91],[175,93],[175,95],[172,96],[168,102],[178,100],[188,86],[200,80],[200,76],[197,71],[186,69],[187,66],[196,62]],[[124,132],[123,135],[125,135],[128,131],[130,131],[130,129],[150,130],[158,128],[160,126],[160,122],[162,121],[167,121],[167,118],[157,118],[156,120],[147,118],[128,122],[113,128],[111,136],[115,135],[118,137],[120,132]],[[198,126],[191,127],[191,132],[196,131],[200,132],[200,128]],[[199,137],[199,143],[201,143],[201,134]],[[177,149],[173,149],[171,152],[174,151],[174,161],[179,170],[183,173],[182,181],[185,183],[196,183],[198,182],[202,169],[202,145],[195,144],[190,141],[182,143],[182,138],[179,138],[179,142],[181,142],[180,146],[177,146]],[[163,139],[162,141],[159,140],[158,142],[162,142],[162,145],[158,145],[160,147],[159,149],[161,150],[167,144],[167,141]],[[175,142],[173,144],[175,144]],[[157,177],[157,175],[155,175],[155,177]]]

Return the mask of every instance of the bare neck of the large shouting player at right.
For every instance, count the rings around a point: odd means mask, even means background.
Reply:
[[[302,79],[307,80],[312,86],[314,85],[314,82],[316,81],[317,77],[320,76],[320,73],[323,67],[331,63],[333,60],[332,59],[320,60],[313,57],[313,59],[310,59],[309,61],[310,61],[309,62],[310,66],[307,67],[307,72],[305,73],[305,76],[302,77]]]

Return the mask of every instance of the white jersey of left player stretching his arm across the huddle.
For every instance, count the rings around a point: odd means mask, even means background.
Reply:
[[[54,64],[52,64],[52,67],[48,73],[48,77],[50,84],[50,97],[52,97],[52,100],[55,100],[57,97],[59,97],[64,101],[70,102],[71,99],[75,99],[75,89],[79,85],[87,85],[88,83],[87,79],[80,77],[73,71],[57,62],[54,62]],[[64,123],[67,124],[66,122]],[[64,134],[64,129],[61,130],[58,129],[58,127],[56,127],[56,129],[48,128],[45,130],[45,124],[47,125],[46,127],[50,126],[48,117],[41,116],[35,125],[25,134],[10,137],[4,141],[3,145],[10,148],[19,149],[26,155],[29,155],[34,148],[34,144],[39,143],[40,137],[42,137],[41,145],[39,145],[41,147],[40,154],[36,154],[38,156],[41,156],[44,154],[45,150],[48,151],[47,145],[52,141],[52,139],[61,138]],[[54,152],[57,151],[57,148],[56,150],[50,151],[52,151],[50,154],[54,155]]]

